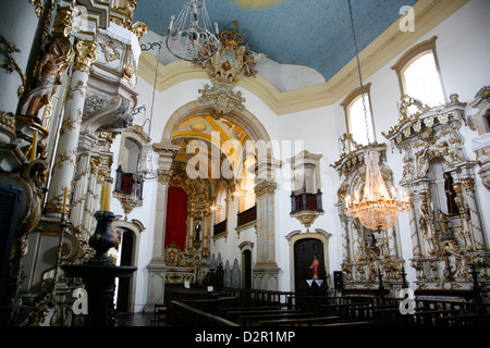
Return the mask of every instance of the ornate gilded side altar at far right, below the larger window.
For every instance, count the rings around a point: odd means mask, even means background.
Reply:
[[[488,261],[490,254],[474,191],[475,162],[467,158],[460,133],[469,126],[465,107],[457,95],[436,108],[405,96],[399,123],[382,133],[403,156],[401,185],[414,204],[412,266],[416,283],[426,288],[468,288],[469,265],[476,258]],[[483,264],[479,271],[488,279]]]

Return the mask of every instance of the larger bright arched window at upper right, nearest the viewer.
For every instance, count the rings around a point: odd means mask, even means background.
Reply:
[[[437,36],[408,49],[392,66],[399,77],[402,96],[433,107],[444,102],[445,91],[436,53]]]

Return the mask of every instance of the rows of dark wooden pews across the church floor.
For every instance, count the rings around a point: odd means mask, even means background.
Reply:
[[[155,308],[157,326],[461,326],[490,325],[487,306],[464,300],[373,296],[306,296],[292,291],[223,289],[180,296]],[[404,304],[404,303],[402,303]]]

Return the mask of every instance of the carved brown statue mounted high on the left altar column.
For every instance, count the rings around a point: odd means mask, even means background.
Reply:
[[[36,69],[37,86],[32,89],[22,107],[25,115],[37,116],[39,110],[51,101],[51,95],[57,83],[57,75],[61,70],[61,63],[66,60],[63,48],[58,39],[46,46]]]

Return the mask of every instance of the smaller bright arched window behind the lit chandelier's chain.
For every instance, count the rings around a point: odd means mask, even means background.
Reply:
[[[345,99],[341,103],[341,105],[344,107],[347,133],[352,134],[354,141],[359,145],[368,145],[368,140],[376,141],[375,125],[372,121],[372,111],[369,97],[370,86],[371,84],[366,84],[363,88],[364,103],[363,90],[360,89],[360,87],[354,89],[347,97],[345,97]],[[364,112],[365,104],[366,115]]]

